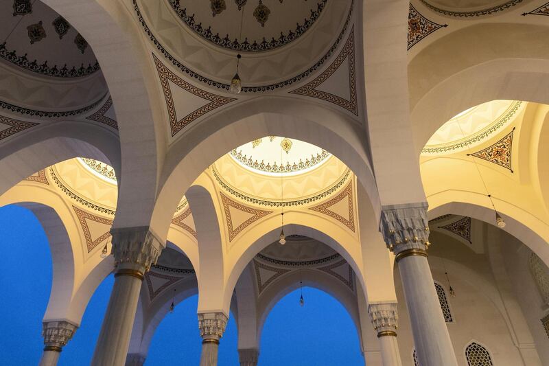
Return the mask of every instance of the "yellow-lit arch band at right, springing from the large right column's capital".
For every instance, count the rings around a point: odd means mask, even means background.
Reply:
[[[455,214],[469,216],[493,225],[495,223],[493,208],[488,205],[480,205],[478,201],[482,198],[485,198],[484,194],[455,190],[434,194],[428,197],[431,204],[428,218]],[[547,225],[540,223],[537,218],[531,217],[526,211],[504,202],[498,204],[498,212],[504,216],[506,222],[506,227],[502,230],[520,240],[526,247],[536,253],[546,265],[549,264],[549,232],[547,232]],[[524,219],[519,220],[518,216],[522,216]],[[537,230],[532,229],[533,227]],[[544,227],[546,233],[539,233],[540,228]]]

